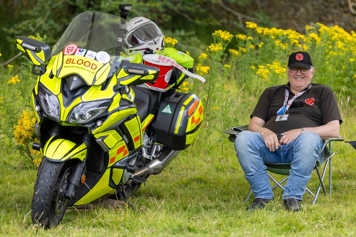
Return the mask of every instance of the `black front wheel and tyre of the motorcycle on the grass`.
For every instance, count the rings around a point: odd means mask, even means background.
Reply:
[[[64,162],[43,159],[37,173],[32,198],[33,224],[38,223],[49,228],[58,225],[62,220],[68,205],[65,194],[71,173],[72,168],[66,168]]]

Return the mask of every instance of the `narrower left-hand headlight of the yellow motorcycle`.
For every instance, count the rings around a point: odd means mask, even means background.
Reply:
[[[59,115],[61,114],[61,106],[59,106],[59,99],[53,93],[49,92],[41,84],[38,86],[38,97],[43,110],[49,117],[53,117],[59,121]]]

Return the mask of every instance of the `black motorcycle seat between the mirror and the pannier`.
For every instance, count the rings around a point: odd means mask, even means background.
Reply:
[[[133,103],[136,105],[137,114],[142,121],[146,114],[155,107],[155,104],[158,101],[158,92],[138,86],[131,86],[131,88],[133,92],[135,92]]]

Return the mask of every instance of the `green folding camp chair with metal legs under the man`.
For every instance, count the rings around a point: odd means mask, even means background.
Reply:
[[[229,135],[229,140],[232,141],[232,142],[235,142],[236,136],[241,131],[247,130],[247,126],[248,125],[242,125],[242,126],[237,126],[237,127],[225,129],[225,130],[223,130],[223,133],[230,134]],[[316,170],[316,173],[318,174],[318,177],[319,177],[319,181],[320,181],[319,187],[316,190],[315,194],[312,193],[308,188],[306,189],[308,191],[308,193],[310,193],[310,194],[312,194],[314,196],[312,205],[315,204],[315,201],[318,198],[318,195],[319,195],[319,192],[320,192],[320,188],[323,189],[323,192],[324,192],[325,196],[327,195],[326,191],[325,191],[323,180],[324,180],[324,176],[325,176],[326,169],[327,169],[328,165],[329,165],[329,196],[331,197],[331,177],[332,177],[331,176],[331,157],[333,157],[335,155],[334,152],[331,152],[331,141],[344,141],[344,139],[343,138],[329,138],[328,140],[326,140],[324,142],[324,145],[323,145],[323,147],[321,148],[321,150],[319,152],[319,155],[321,154],[321,152],[324,152],[323,163],[320,163],[319,160],[317,160],[316,164],[315,164],[315,167],[314,167],[314,169]],[[328,144],[329,144],[329,147],[327,146]],[[319,167],[321,165],[323,165],[324,163],[325,163],[325,165],[324,165],[323,173],[320,175]],[[265,163],[265,165],[267,166],[267,171],[269,171],[271,173],[281,174],[281,175],[287,176],[282,181],[278,182],[276,179],[274,179],[272,177],[272,175],[269,172],[267,172],[268,177],[271,178],[271,180],[274,183],[276,183],[276,185],[274,185],[274,187],[272,187],[272,190],[274,190],[277,187],[279,187],[284,191],[284,187],[282,186],[282,184],[284,182],[286,182],[288,180],[288,178],[289,178],[290,163],[283,163],[283,164],[266,164]],[[248,200],[248,198],[250,198],[251,193],[252,193],[252,188],[250,188],[250,192],[248,192],[248,194],[247,194],[246,201]]]

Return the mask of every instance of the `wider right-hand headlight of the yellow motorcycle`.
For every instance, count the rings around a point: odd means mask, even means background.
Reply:
[[[105,101],[90,101],[80,103],[69,113],[69,123],[89,123],[103,114],[111,103],[111,99]]]

